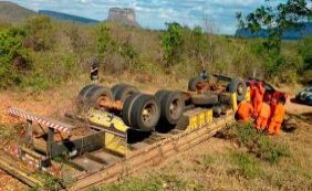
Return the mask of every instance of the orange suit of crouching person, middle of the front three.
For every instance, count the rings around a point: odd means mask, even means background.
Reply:
[[[256,127],[264,130],[268,126],[268,119],[271,116],[271,108],[267,103],[261,103],[259,106],[258,118],[256,120]]]

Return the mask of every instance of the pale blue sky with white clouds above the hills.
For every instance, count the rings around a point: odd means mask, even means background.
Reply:
[[[110,8],[134,8],[144,28],[164,29],[165,22],[201,25],[216,33],[233,34],[236,12],[247,13],[264,0],[11,0],[32,10],[53,10],[96,20],[105,20]]]

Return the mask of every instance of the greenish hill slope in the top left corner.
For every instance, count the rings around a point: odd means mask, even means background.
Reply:
[[[37,12],[20,7],[19,4],[0,1],[0,21],[6,21],[10,23],[23,22],[28,18],[35,15]]]

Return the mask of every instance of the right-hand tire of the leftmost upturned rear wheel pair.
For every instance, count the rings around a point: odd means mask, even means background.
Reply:
[[[98,105],[98,102],[100,102],[101,98],[103,98],[103,99],[105,98],[110,102],[114,102],[112,91],[110,88],[102,87],[102,86],[97,86],[97,87],[92,88],[85,95],[85,98],[86,98],[86,103],[85,103],[86,106],[96,107],[96,108],[101,107]]]

